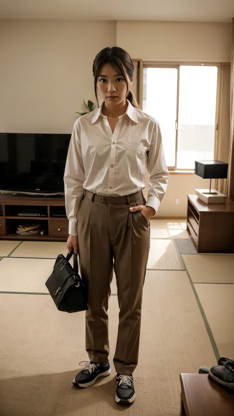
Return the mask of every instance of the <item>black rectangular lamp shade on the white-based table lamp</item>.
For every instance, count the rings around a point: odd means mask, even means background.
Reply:
[[[220,160],[195,160],[195,174],[203,179],[228,177],[228,163]]]

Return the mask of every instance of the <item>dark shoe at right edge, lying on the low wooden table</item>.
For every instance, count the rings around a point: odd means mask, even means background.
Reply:
[[[234,388],[234,361],[229,360],[222,366],[212,367],[209,375],[223,386]]]

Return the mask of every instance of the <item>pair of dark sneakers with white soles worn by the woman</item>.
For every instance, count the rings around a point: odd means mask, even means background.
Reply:
[[[81,364],[81,363],[80,363]],[[86,362],[87,364],[87,362]],[[98,378],[107,377],[111,374],[109,360],[106,364],[95,364],[92,361],[81,370],[73,380],[75,387],[90,387]],[[116,402],[129,405],[135,400],[135,390],[132,376],[117,374]]]

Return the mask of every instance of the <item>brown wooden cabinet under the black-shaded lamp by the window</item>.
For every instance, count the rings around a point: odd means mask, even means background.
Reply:
[[[205,204],[188,195],[187,230],[197,253],[234,253],[234,201]]]

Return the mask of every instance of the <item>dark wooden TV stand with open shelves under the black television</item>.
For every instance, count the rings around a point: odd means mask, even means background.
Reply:
[[[19,216],[20,210],[40,208],[45,216]],[[68,219],[59,217],[59,207],[65,209],[65,198],[44,196],[15,196],[0,193],[0,240],[67,241]],[[37,223],[44,228],[43,235],[20,235],[17,227],[26,222]]]

